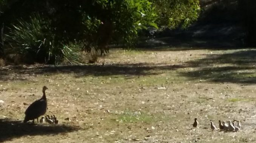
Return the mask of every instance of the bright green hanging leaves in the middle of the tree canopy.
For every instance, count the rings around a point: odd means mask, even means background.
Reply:
[[[116,37],[121,38],[126,44],[133,44],[139,30],[147,29],[148,26],[157,28],[154,23],[157,15],[148,0],[125,0],[116,7],[119,9],[114,12],[114,32]]]

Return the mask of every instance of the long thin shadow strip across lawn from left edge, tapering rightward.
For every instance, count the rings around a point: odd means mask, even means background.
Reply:
[[[26,80],[26,76],[37,74],[75,74],[76,77],[94,75],[154,75],[155,70],[174,70],[185,65],[157,65],[154,63],[111,64],[111,65],[64,65],[64,66],[6,66],[0,69],[0,80]]]

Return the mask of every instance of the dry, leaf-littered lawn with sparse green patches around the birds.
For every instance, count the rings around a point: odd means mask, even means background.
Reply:
[[[5,66],[0,125],[12,128],[0,128],[0,141],[253,143],[255,59],[246,52],[254,51],[112,50],[100,65]],[[43,85],[46,114],[61,124],[23,125],[23,103],[39,99]],[[210,131],[209,120],[219,119],[239,119],[242,130]]]

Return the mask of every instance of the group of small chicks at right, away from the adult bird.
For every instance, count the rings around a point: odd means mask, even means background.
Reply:
[[[211,130],[217,130],[216,126],[213,124],[213,122],[211,121]],[[194,119],[194,123],[193,123],[193,127],[197,128],[198,126],[198,121],[197,118]],[[221,120],[219,120],[219,130],[220,131],[230,131],[230,132],[237,132],[241,129],[241,123],[239,120],[234,120],[233,123],[229,120],[228,124],[226,124],[225,121],[221,122]]]

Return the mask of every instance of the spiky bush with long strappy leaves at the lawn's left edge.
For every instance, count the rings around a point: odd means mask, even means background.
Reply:
[[[32,15],[30,21],[18,20],[9,27],[6,41],[12,46],[10,54],[18,54],[26,63],[60,63],[63,58],[77,62],[77,46],[65,46],[54,41],[49,23],[39,15]]]

